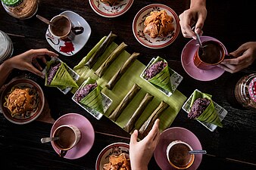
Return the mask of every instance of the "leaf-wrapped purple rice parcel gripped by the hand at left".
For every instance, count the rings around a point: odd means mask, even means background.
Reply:
[[[57,88],[78,88],[75,80],[67,71],[67,64],[50,60],[46,63],[45,85]]]

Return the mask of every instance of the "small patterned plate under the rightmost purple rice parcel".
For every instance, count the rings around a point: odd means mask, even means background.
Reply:
[[[195,89],[195,90],[198,91],[198,89]],[[190,111],[191,100],[192,100],[192,94],[190,95],[189,99],[186,100],[185,104],[183,104],[183,110],[186,111],[186,113],[189,113]],[[222,121],[225,118],[227,111],[223,107],[220,107],[220,105],[216,104],[215,102],[214,102],[214,107],[220,118],[220,121]],[[200,122],[201,125],[204,125],[205,128],[208,128],[210,131],[214,131],[217,128],[217,125],[214,125],[208,122],[201,122],[200,120],[197,120],[197,121]]]

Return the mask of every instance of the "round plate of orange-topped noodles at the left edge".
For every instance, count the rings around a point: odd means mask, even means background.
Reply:
[[[2,92],[2,113],[15,124],[32,122],[42,113],[44,106],[42,88],[30,79],[15,79]]]

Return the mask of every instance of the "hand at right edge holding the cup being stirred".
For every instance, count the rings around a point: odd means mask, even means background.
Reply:
[[[230,53],[234,58],[225,59],[218,66],[229,73],[236,73],[250,66],[256,58],[256,42],[246,42]]]

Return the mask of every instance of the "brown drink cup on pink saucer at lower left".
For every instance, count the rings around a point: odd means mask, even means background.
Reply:
[[[75,125],[61,125],[55,129],[52,137],[59,138],[52,142],[59,149],[59,156],[64,157],[67,151],[75,147],[80,141],[81,131]]]

